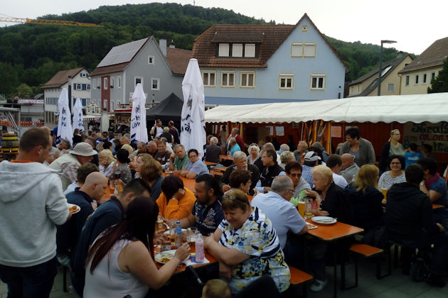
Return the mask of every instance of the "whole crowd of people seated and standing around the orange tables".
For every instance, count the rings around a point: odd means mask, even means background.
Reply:
[[[314,216],[363,228],[357,239],[363,243],[433,245],[426,280],[444,286],[447,184],[431,148],[405,149],[400,131],[391,131],[377,167],[373,145],[358,128],[348,128],[338,154],[304,140],[297,147],[292,139],[247,146],[238,128],[226,133],[208,138],[202,160],[196,148],[181,145],[172,121],[166,127],[156,121],[148,143],[75,131],[73,140],[56,145],[48,128],[28,129],[16,159],[0,163],[0,278],[9,297],[48,297],[58,263],[70,268],[80,297],[157,297],[190,249],[184,243],[157,267],[158,218],[178,219],[181,228],[204,236],[218,260],[215,273],[226,281],[210,280],[204,293],[216,287],[227,297],[241,295],[266,277],[271,283],[260,287],[284,292],[289,265],[311,272],[310,289],[319,292],[327,283],[329,249],[315,239],[299,241],[308,226],[297,206],[306,199]],[[223,167],[223,153],[233,162],[222,176],[210,175],[210,165]],[[115,193],[105,197],[112,187]],[[80,211],[70,213],[67,203]],[[346,255],[352,241],[338,245],[338,255]]]

